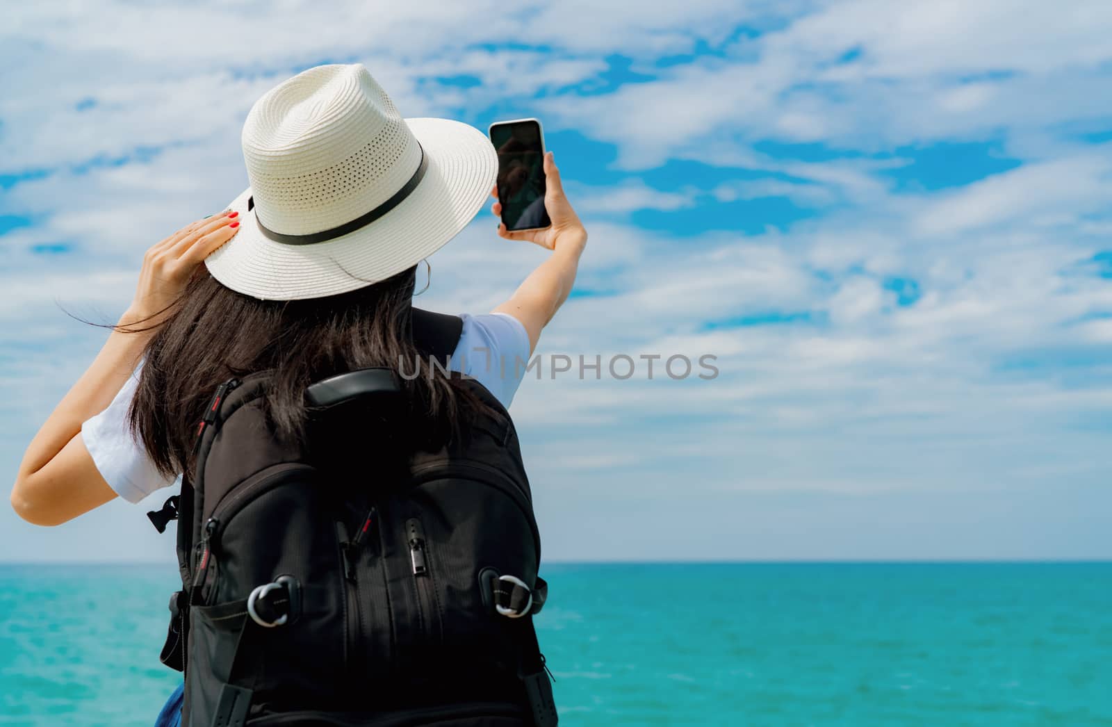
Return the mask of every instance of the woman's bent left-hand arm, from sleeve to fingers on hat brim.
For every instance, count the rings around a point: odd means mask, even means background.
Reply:
[[[23,454],[11,490],[11,506],[21,518],[60,525],[116,497],[78,436],[81,425],[123,387],[200,262],[236,235],[234,217],[198,220],[147,251],[128,311]]]

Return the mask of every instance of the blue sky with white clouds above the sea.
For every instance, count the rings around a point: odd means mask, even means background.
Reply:
[[[354,6],[6,10],[9,481],[106,338],[66,311],[113,322],[146,248],[247,187],[259,96],[361,62],[406,117],[539,118],[587,225],[537,353],[603,378],[510,409],[545,559],[1112,557],[1112,3]],[[495,225],[417,305],[508,297],[545,252]],[[0,560],[169,562],[168,495],[0,508]]]

